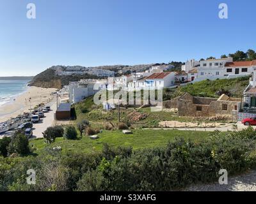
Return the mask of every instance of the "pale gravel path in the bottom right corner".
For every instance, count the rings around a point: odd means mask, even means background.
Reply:
[[[256,191],[256,171],[249,171],[244,175],[228,179],[228,184],[196,185],[185,189],[185,191]]]

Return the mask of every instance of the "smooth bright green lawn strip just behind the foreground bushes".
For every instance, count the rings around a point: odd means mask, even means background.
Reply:
[[[99,139],[92,140],[88,136],[78,138],[77,140],[63,140],[56,138],[56,142],[51,145],[44,143],[44,139],[31,140],[30,145],[36,147],[35,153],[40,154],[45,150],[45,147],[61,146],[62,152],[93,152],[102,150],[104,143],[108,143],[113,147],[131,146],[134,150],[148,147],[163,147],[174,138],[182,137],[186,140],[191,139],[199,142],[207,138],[209,132],[206,131],[179,131],[179,130],[164,130],[164,129],[134,129],[131,135],[125,135],[122,131],[103,131],[97,134]]]

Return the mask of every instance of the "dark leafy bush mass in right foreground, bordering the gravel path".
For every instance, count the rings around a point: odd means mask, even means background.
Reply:
[[[225,136],[214,132],[201,143],[179,138],[167,147],[138,150],[127,157],[113,154],[106,146],[100,165],[79,180],[77,189],[170,191],[196,182],[217,182],[220,169],[234,175],[252,166],[255,134],[253,129]]]

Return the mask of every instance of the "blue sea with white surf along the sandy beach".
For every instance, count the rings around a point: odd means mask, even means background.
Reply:
[[[0,80],[0,106],[10,103],[28,89],[29,80]]]

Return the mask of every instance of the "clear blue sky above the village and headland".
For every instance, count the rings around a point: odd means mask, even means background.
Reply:
[[[36,19],[26,18],[28,3]],[[227,3],[228,19],[218,5]],[[0,76],[256,50],[255,0],[0,0]]]

